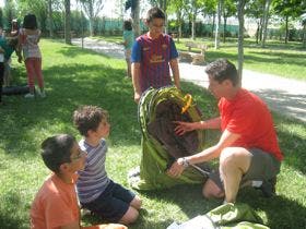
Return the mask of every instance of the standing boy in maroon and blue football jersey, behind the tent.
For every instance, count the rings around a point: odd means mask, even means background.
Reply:
[[[174,40],[163,34],[165,14],[158,8],[148,11],[145,24],[146,34],[137,38],[132,47],[132,81],[134,101],[139,103],[141,94],[149,87],[160,88],[172,84],[169,65],[174,84],[179,85],[178,53]]]

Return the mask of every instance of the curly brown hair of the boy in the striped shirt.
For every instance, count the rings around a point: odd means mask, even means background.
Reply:
[[[90,130],[96,131],[104,119],[108,120],[108,112],[96,106],[83,106],[73,113],[74,125],[83,136],[87,136]]]

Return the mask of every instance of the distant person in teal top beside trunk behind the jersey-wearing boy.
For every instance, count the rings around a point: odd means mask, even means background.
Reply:
[[[127,61],[127,74],[128,77],[131,77],[131,49],[134,41],[134,35],[132,31],[131,21],[127,20],[123,22],[123,46],[125,46],[125,56]]]

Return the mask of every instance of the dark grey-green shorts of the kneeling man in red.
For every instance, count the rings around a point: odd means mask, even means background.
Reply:
[[[281,162],[269,153],[259,148],[251,148],[248,152],[252,155],[248,171],[243,176],[240,185],[247,181],[268,181],[280,172]],[[209,178],[224,191],[220,171],[214,170]]]

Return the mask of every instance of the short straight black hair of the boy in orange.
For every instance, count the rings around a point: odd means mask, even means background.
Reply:
[[[45,165],[51,171],[58,173],[62,164],[71,161],[71,149],[74,143],[74,136],[69,134],[59,134],[46,138],[42,143],[42,157]]]

